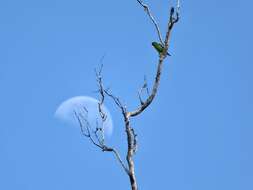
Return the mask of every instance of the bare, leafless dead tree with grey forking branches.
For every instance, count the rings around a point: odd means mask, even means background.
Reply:
[[[97,126],[92,127],[91,124],[89,123],[86,115],[89,114],[89,110],[87,110],[85,107],[82,110],[75,111],[75,116],[79,122],[80,128],[81,128],[81,133],[84,137],[87,137],[92,144],[94,144],[96,147],[101,149],[103,152],[112,152],[122,168],[124,169],[125,173],[128,175],[130,184],[131,184],[131,189],[132,190],[138,190],[137,186],[137,180],[135,176],[135,165],[134,165],[134,160],[133,157],[137,151],[137,138],[136,138],[136,133],[134,131],[134,128],[131,126],[130,123],[130,118],[136,117],[140,115],[147,107],[150,106],[152,101],[154,100],[157,90],[160,84],[160,78],[162,74],[162,66],[165,58],[167,57],[167,52],[169,49],[170,45],[170,38],[171,38],[171,32],[173,30],[174,25],[179,21],[179,9],[180,9],[180,4],[179,0],[177,0],[177,6],[176,8],[171,7],[170,12],[169,12],[169,18],[168,18],[168,23],[167,23],[167,31],[165,38],[163,40],[160,28],[152,15],[149,6],[144,3],[142,0],[137,0],[137,3],[144,9],[144,11],[147,13],[148,18],[152,21],[152,24],[155,27],[155,30],[158,35],[159,43],[163,47],[163,51],[159,53],[158,55],[158,65],[157,65],[157,71],[154,79],[154,83],[152,85],[152,90],[149,92],[148,85],[146,79],[144,79],[144,84],[138,91],[138,98],[140,101],[140,105],[137,106],[135,110],[128,111],[127,106],[124,105],[121,100],[113,95],[109,89],[104,87],[103,83],[103,78],[102,78],[102,69],[103,65],[96,71],[96,80],[98,84],[98,93],[100,96],[100,100],[98,103],[98,111],[99,111],[99,116],[100,119],[102,120],[102,124],[99,125],[97,122]],[[143,92],[148,94],[148,97],[143,100],[141,95]],[[104,135],[104,123],[107,119],[107,115],[103,110],[103,104],[105,98],[111,98],[116,106],[119,108],[120,112],[122,113],[124,123],[125,123],[125,132],[126,132],[126,139],[127,139],[127,153],[126,153],[126,163],[124,160],[121,158],[119,152],[113,148],[108,146],[105,143],[105,135]]]

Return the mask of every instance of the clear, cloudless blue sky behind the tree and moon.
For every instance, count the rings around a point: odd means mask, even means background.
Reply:
[[[148,3],[165,31],[168,5]],[[158,96],[133,119],[140,190],[253,189],[252,1],[182,1]],[[97,97],[94,68],[131,110],[152,83],[157,35],[135,0],[0,2],[0,189],[128,190],[110,153],[54,118]],[[126,147],[121,115],[111,145]]]

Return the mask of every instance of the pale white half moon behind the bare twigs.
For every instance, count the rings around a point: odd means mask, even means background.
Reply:
[[[55,112],[55,117],[71,126],[79,126],[75,112],[82,114],[89,122],[91,129],[95,130],[96,126],[102,126],[102,118],[98,110],[99,101],[89,96],[76,96],[62,102]],[[103,105],[103,112],[106,114],[106,120],[103,123],[104,133],[107,137],[112,135],[113,122],[109,110]],[[85,112],[87,110],[88,112]],[[85,113],[84,113],[85,112]]]

